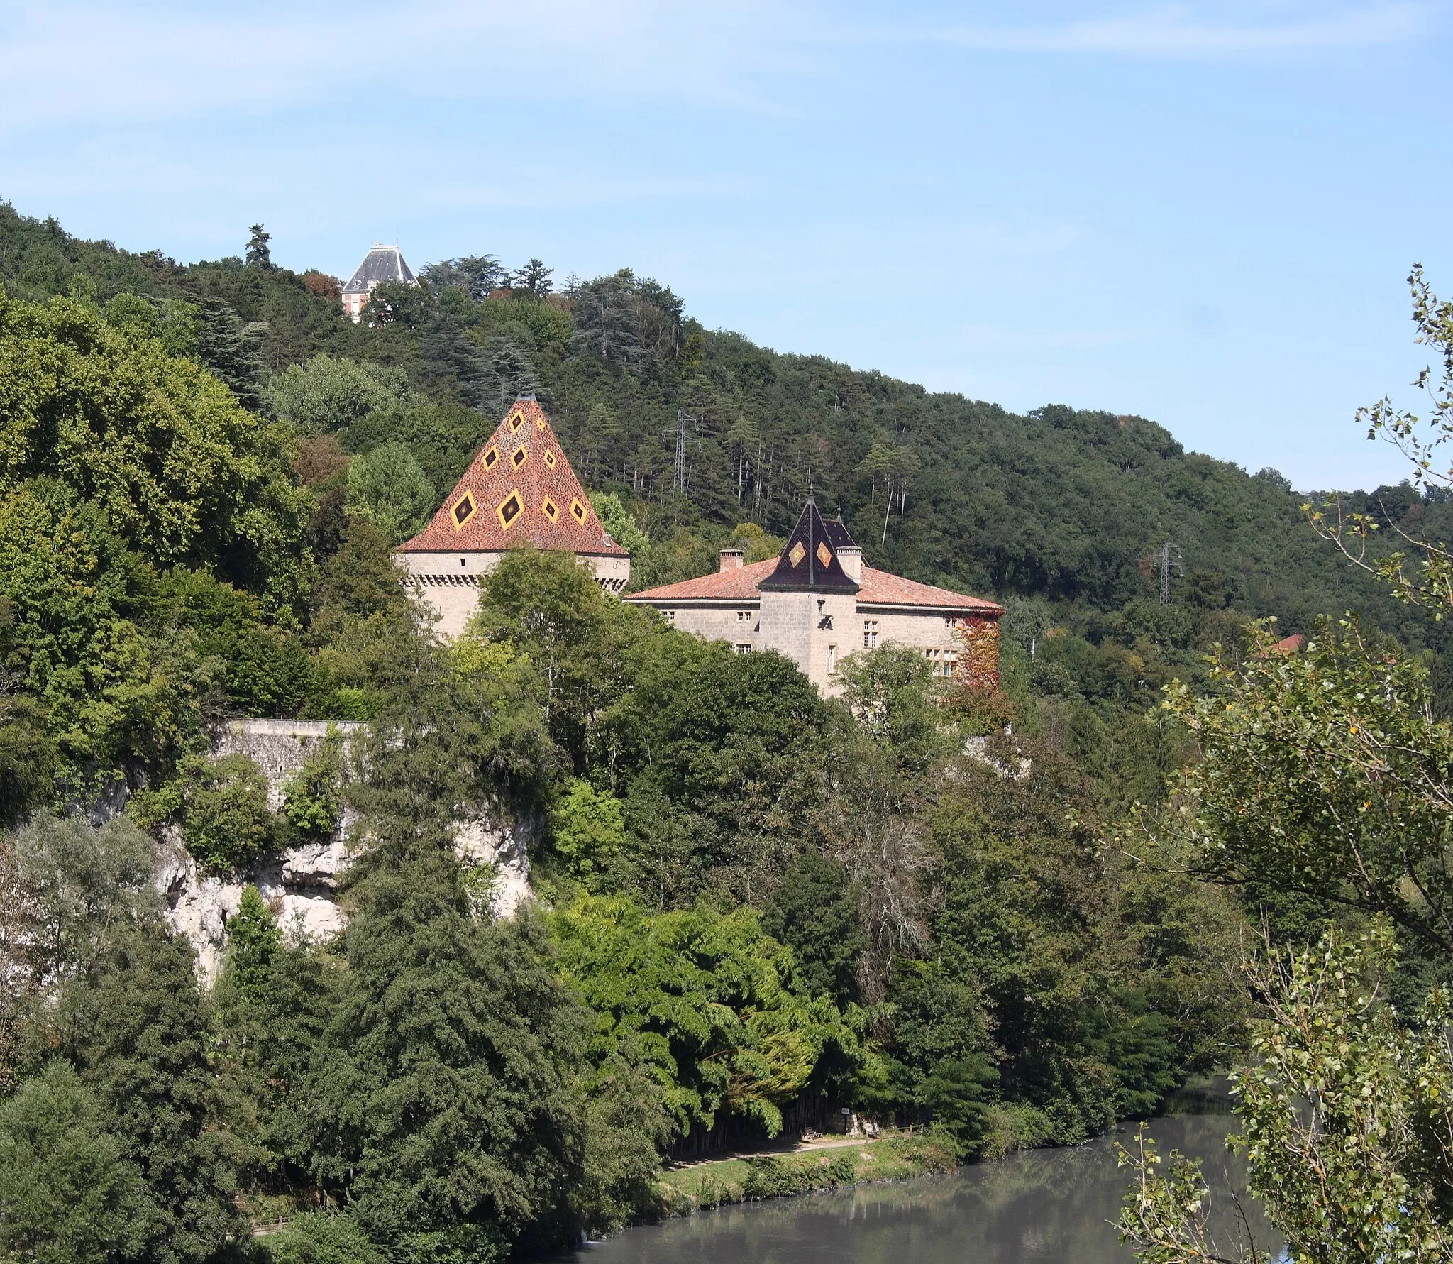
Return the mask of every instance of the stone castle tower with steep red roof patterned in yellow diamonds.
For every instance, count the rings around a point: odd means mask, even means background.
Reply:
[[[607,593],[631,580],[631,555],[600,524],[533,395],[514,401],[433,522],[397,555],[404,586],[434,612],[440,635],[458,636],[481,577],[520,545],[572,552]]]

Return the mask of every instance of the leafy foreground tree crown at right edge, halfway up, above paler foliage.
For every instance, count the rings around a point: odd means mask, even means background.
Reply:
[[[1258,628],[1241,661],[1218,657],[1209,696],[1171,690],[1205,758],[1177,782],[1167,844],[1210,880],[1382,912],[1453,953],[1453,729],[1431,713],[1427,668],[1354,622],[1302,654],[1274,639]]]

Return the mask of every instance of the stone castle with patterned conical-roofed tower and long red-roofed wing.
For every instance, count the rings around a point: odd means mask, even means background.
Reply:
[[[452,638],[478,606],[481,577],[520,546],[572,552],[607,593],[622,594],[631,581],[631,555],[600,524],[533,397],[510,407],[429,526],[397,555],[405,587]],[[936,676],[998,683],[1003,606],[865,567],[843,522],[824,520],[811,497],[780,556],[747,565],[741,549],[722,549],[716,574],[625,600],[740,654],[776,649],[824,693],[837,692],[844,658],[888,642],[923,651]]]

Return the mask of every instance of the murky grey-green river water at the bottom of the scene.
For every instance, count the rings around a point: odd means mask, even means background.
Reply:
[[[1280,1244],[1245,1196],[1245,1168],[1226,1151],[1226,1114],[1157,1119],[1161,1152],[1203,1159],[1213,1223],[1229,1228],[1231,1190],[1250,1212],[1255,1244]],[[724,1207],[629,1229],[583,1249],[590,1264],[1132,1264],[1112,1220],[1129,1174],[1116,1167],[1122,1127],[1074,1149],[1029,1151],[946,1177]]]

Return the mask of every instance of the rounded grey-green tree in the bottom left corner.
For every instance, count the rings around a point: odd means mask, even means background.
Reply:
[[[62,1061],[0,1101],[0,1251],[36,1264],[141,1257],[155,1209],[125,1142]]]

